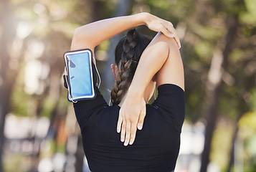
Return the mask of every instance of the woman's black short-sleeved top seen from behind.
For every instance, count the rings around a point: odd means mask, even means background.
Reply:
[[[124,146],[116,132],[118,105],[108,106],[100,91],[93,100],[74,104],[90,170],[170,172],[176,166],[184,122],[184,91],[177,85],[158,87],[158,97],[146,105],[143,130],[133,145]]]

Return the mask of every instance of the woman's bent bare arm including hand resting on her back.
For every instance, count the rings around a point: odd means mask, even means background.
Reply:
[[[157,86],[169,83],[184,90],[184,69],[179,47],[174,39],[161,33],[156,35],[141,55],[133,81],[120,108],[117,130],[118,133],[121,131],[120,137],[124,145],[133,144],[137,128],[142,129],[146,115],[143,94],[154,75]]]

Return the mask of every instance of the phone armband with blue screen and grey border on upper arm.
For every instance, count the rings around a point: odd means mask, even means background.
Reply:
[[[67,100],[77,102],[77,100],[88,100],[95,97],[93,80],[93,65],[98,74],[100,87],[100,75],[96,67],[95,58],[90,49],[80,49],[65,52],[65,82],[67,82]],[[97,77],[96,77],[97,80]]]

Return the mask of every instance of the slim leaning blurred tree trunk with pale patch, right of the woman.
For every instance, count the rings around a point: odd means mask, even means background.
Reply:
[[[207,171],[209,163],[209,153],[211,151],[212,135],[217,121],[217,109],[219,107],[219,96],[222,93],[222,75],[223,71],[227,70],[228,56],[231,52],[232,42],[234,42],[237,33],[238,19],[237,16],[232,17],[228,21],[229,29],[227,30],[227,37],[224,42],[224,50],[220,52],[221,48],[217,48],[212,58],[211,68],[209,70],[207,81],[207,127],[205,132],[204,151],[202,153],[201,172]],[[218,46],[217,46],[218,47]]]

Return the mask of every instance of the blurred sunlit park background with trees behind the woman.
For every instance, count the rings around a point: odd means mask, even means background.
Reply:
[[[76,27],[141,11],[171,21],[181,38],[186,120],[176,171],[256,171],[255,0],[1,0],[0,171],[87,171],[62,54]],[[106,100],[122,35],[95,49]]]

